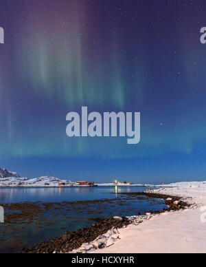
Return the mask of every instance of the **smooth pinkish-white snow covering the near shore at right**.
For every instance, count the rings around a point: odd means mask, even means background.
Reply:
[[[170,184],[152,192],[181,196],[194,205],[119,229],[113,246],[94,253],[206,253],[206,182]]]

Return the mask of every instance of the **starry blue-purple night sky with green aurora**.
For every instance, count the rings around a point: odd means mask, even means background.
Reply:
[[[34,178],[206,178],[203,0],[1,0],[0,167]],[[68,138],[69,111],[141,112],[141,142]]]

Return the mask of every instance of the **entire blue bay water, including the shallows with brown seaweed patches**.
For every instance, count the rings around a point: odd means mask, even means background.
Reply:
[[[1,188],[0,253],[19,253],[58,237],[65,231],[91,226],[97,217],[144,214],[166,208],[163,200],[122,195],[144,187]]]

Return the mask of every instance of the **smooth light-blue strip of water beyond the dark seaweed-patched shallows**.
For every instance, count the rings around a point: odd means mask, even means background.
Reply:
[[[0,188],[0,204],[16,202],[62,202],[97,200],[118,197],[118,193],[144,191],[144,187],[99,186],[99,187],[43,187]],[[112,193],[115,193],[113,195]]]

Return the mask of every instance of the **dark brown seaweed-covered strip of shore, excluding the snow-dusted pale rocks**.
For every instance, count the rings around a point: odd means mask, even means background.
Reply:
[[[122,193],[122,195],[130,195],[133,197],[145,196],[150,198],[159,198],[165,200],[165,204],[168,205],[168,209],[163,209],[163,211],[151,211],[153,214],[164,213],[165,211],[177,211],[180,209],[185,209],[190,206],[186,202],[181,200],[181,197],[163,195],[158,193]],[[170,199],[170,200],[169,200]],[[178,204],[175,204],[178,202]],[[53,253],[54,251],[61,251],[62,253],[69,253],[74,249],[79,248],[84,243],[93,242],[98,236],[104,235],[111,228],[122,228],[130,224],[130,220],[126,217],[123,220],[114,219],[102,219],[102,218],[91,218],[98,222],[93,224],[91,227],[81,228],[75,232],[66,232],[65,235],[61,235],[58,238],[52,239],[49,242],[42,242],[37,246],[23,250],[23,253]]]

